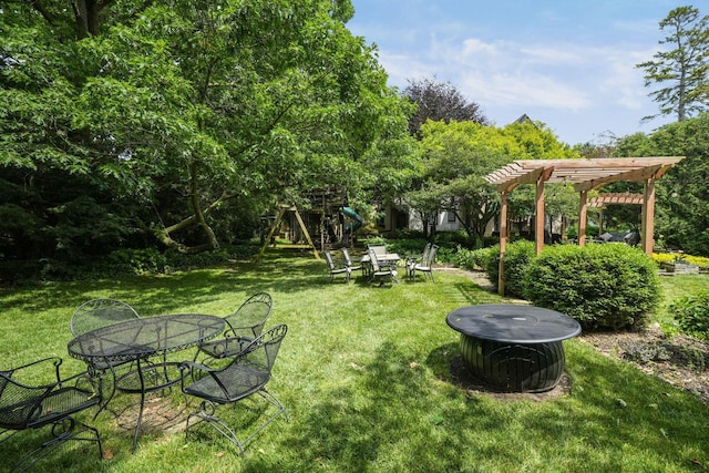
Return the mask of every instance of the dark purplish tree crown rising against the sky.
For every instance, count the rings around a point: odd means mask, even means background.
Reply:
[[[435,79],[409,80],[403,95],[417,104],[417,111],[409,120],[409,131],[419,138],[421,125],[428,120],[445,123],[471,121],[481,125],[489,123],[481,106],[469,101],[450,82],[440,82]]]

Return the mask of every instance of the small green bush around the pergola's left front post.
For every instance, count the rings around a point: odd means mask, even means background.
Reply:
[[[485,265],[487,278],[495,285],[500,276],[500,245],[490,248]],[[536,250],[534,241],[521,239],[507,245],[505,250],[505,296],[525,298],[524,275]]]

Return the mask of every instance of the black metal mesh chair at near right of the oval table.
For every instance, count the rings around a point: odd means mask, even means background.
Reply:
[[[186,440],[189,439],[191,429],[202,422],[207,422],[238,446],[240,453],[244,454],[247,442],[276,418],[284,414],[288,420],[284,404],[266,389],[287,331],[288,327],[281,323],[264,332],[224,368],[210,368],[193,361],[185,361],[181,364],[181,369],[184,371],[182,391],[202,400],[199,409],[187,417]],[[253,430],[245,440],[240,440],[234,429],[223,418],[217,417],[217,410],[219,407],[246,400],[253,394],[258,394],[268,401],[276,408],[276,412],[270,414],[265,423]],[[225,417],[230,418],[232,414]]]

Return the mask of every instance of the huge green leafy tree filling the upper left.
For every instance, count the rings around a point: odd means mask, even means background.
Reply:
[[[366,198],[377,175],[407,177],[410,106],[346,28],[349,0],[11,3],[9,185],[81,177],[137,228],[197,251],[219,245],[219,219],[255,208],[234,204],[339,185]]]

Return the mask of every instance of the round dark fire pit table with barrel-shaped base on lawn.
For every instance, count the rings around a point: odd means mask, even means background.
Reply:
[[[461,333],[461,354],[472,374],[507,392],[554,389],[564,372],[563,340],[580,333],[555,310],[514,304],[467,306],[445,318]]]

